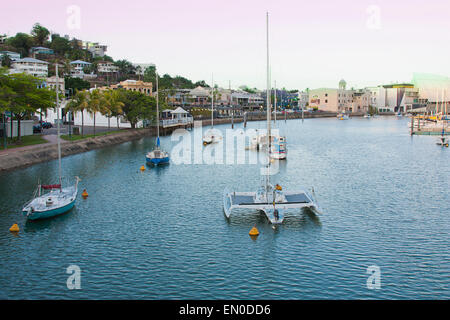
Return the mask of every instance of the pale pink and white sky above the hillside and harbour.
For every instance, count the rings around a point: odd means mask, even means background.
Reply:
[[[361,88],[450,76],[450,0],[8,1],[0,34],[49,30],[108,46],[114,59],[221,87]]]

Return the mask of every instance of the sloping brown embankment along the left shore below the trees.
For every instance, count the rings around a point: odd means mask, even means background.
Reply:
[[[65,157],[137,140],[152,135],[153,131],[153,129],[130,129],[110,135],[73,142],[61,140],[61,155]],[[0,172],[23,168],[55,159],[58,159],[58,145],[54,143],[26,147],[26,149],[9,149],[0,153]]]

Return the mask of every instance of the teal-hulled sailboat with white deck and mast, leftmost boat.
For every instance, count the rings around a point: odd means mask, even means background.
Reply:
[[[58,83],[58,65],[56,65],[56,83]],[[61,168],[61,143],[60,143],[60,123],[59,123],[59,94],[56,86],[56,114],[57,114],[57,133],[58,133],[58,175],[59,184],[41,185],[34,193],[33,199],[29,201],[22,209],[23,215],[29,220],[38,220],[51,218],[65,213],[73,208],[78,194],[78,182],[80,179],[75,177],[75,184],[70,187],[62,187],[62,168]],[[45,192],[48,191],[48,192]]]

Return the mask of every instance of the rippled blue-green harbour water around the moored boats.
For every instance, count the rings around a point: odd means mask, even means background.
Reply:
[[[293,212],[277,230],[256,212],[223,215],[224,188],[256,190],[259,165],[141,173],[154,138],[64,158],[64,175],[90,196],[47,221],[26,222],[20,209],[38,178],[55,183],[57,161],[0,174],[0,298],[448,299],[450,150],[406,124],[280,122],[289,156],[274,181],[314,186],[325,214]],[[72,264],[81,290],[66,287]],[[371,265],[380,290],[367,289]]]

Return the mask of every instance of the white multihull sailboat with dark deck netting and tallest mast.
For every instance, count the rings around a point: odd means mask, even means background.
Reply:
[[[271,136],[271,108],[270,108],[270,80],[269,80],[269,13],[267,19],[267,136]],[[271,139],[268,139],[267,153],[270,158]],[[270,160],[266,166],[266,174],[262,186],[256,192],[229,192],[224,191],[223,208],[227,218],[230,218],[235,209],[251,209],[264,212],[272,224],[281,224],[284,221],[284,212],[289,209],[308,207],[320,212],[319,207],[311,194],[305,191],[283,191],[280,185],[273,186],[270,182]],[[314,191],[312,192],[314,194]]]

